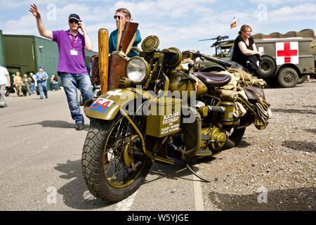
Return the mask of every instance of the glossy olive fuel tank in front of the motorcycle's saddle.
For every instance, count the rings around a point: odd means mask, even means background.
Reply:
[[[190,77],[189,77],[190,76]],[[187,75],[185,72],[174,70],[169,72],[169,91],[196,91],[196,95],[202,96],[207,92],[206,85],[197,77]],[[194,82],[195,81],[195,82]]]

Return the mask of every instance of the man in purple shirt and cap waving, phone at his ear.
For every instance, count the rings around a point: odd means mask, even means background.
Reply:
[[[56,41],[59,49],[58,75],[67,96],[72,119],[76,129],[84,129],[84,117],[81,115],[78,103],[77,89],[81,91],[84,101],[93,98],[91,80],[84,63],[84,49],[92,51],[93,44],[86,32],[86,26],[77,14],[68,18],[69,30],[48,31],[41,20],[41,14],[35,4],[29,11],[37,19],[37,28],[42,37]],[[79,33],[79,28],[84,34]]]

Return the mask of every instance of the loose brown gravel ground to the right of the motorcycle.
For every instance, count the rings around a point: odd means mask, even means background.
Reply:
[[[265,96],[268,127],[199,165],[205,210],[316,210],[316,81]]]

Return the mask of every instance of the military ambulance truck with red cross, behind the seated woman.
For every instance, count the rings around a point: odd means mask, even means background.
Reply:
[[[265,79],[270,85],[292,87],[304,82],[307,75],[315,75],[316,41],[313,30],[305,29],[287,34],[254,34],[252,37],[258,51],[263,53],[258,77]],[[218,42],[216,47],[230,48],[230,51],[224,58],[221,53],[217,57],[230,60],[233,46],[232,39]],[[215,72],[220,71],[220,65],[202,63],[200,69]]]

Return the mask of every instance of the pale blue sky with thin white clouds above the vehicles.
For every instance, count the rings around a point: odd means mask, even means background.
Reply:
[[[253,34],[286,33],[306,28],[316,32],[315,0],[0,0],[0,30],[4,34],[39,36],[29,4],[39,6],[47,30],[66,30],[70,13],[78,13],[98,49],[98,29],[115,29],[114,11],[129,8],[143,39],[157,35],[159,48],[171,46],[181,51],[192,49],[213,53],[212,41],[198,41],[228,35],[235,39],[243,24],[251,25]],[[230,29],[233,17],[237,28]]]

